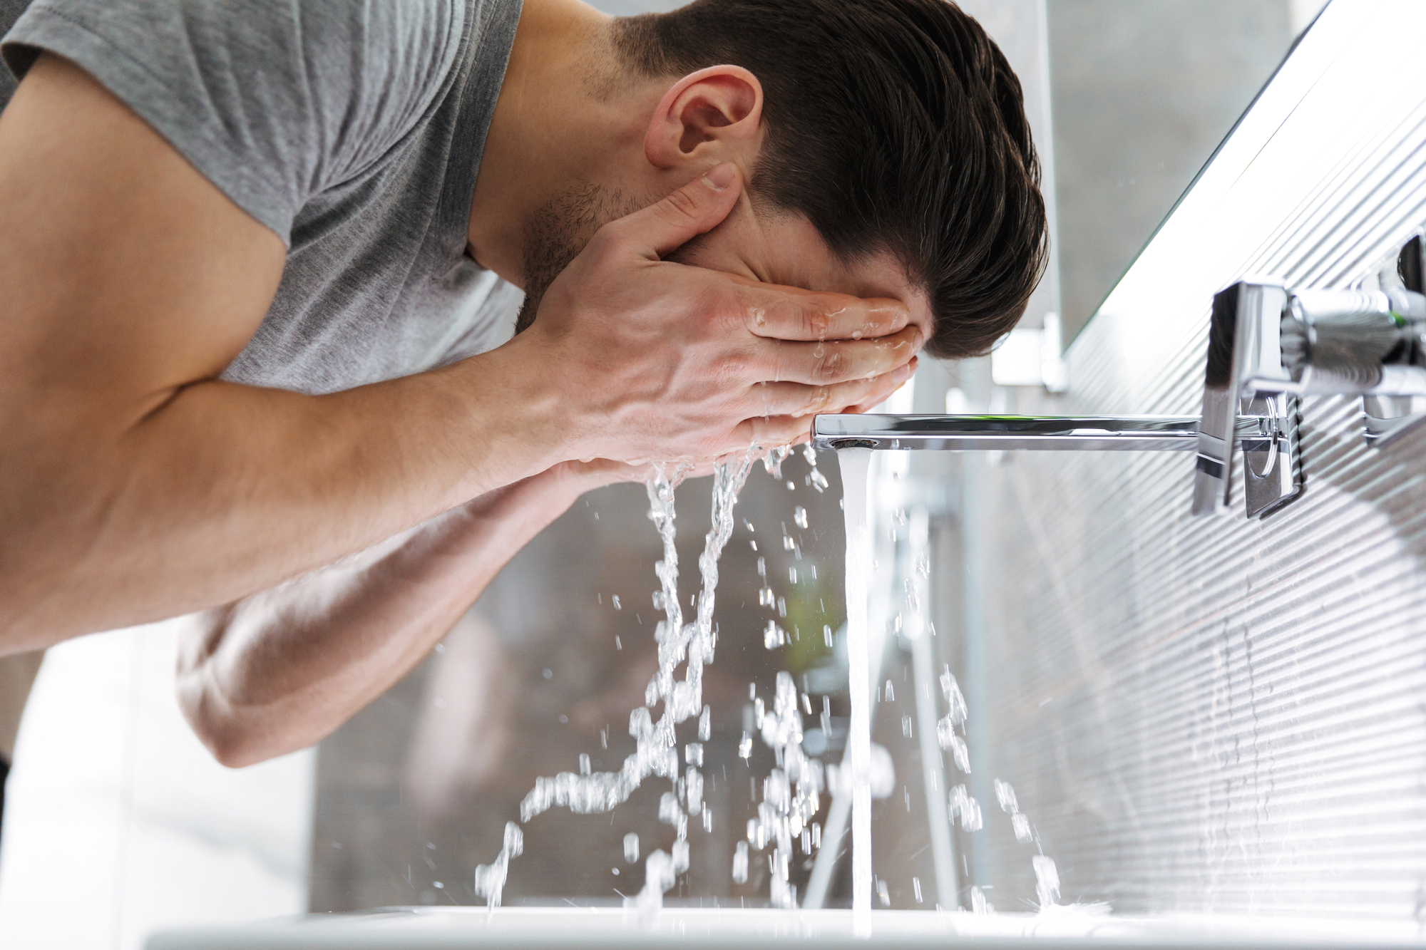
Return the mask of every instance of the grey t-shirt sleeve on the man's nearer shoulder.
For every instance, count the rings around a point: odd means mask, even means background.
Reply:
[[[291,244],[314,195],[384,160],[431,108],[461,0],[36,0],[0,51],[106,86]]]

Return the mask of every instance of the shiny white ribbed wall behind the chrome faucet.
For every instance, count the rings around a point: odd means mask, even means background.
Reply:
[[[1420,14],[1329,7],[1074,344],[1071,391],[1020,408],[1196,415],[1214,291],[1343,287],[1395,260],[1426,224],[1426,108],[1415,73],[1379,64]],[[1306,399],[1302,425],[1306,495],[1262,522],[1241,484],[1231,514],[1189,518],[1186,455],[984,469],[980,756],[1067,900],[1423,913],[1426,438],[1369,451],[1339,397]],[[992,817],[965,844],[1015,906],[1032,847]]]

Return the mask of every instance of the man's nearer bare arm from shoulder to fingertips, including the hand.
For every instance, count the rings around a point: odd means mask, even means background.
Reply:
[[[776,444],[858,402],[920,347],[898,304],[660,261],[737,188],[602,230],[493,352],[327,397],[240,387],[217,375],[281,241],[41,57],[0,114],[0,652],[241,599],[566,459]]]

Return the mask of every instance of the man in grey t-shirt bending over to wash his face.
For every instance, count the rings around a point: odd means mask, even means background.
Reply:
[[[582,491],[983,352],[1044,258],[1018,83],[944,0],[36,0],[4,54],[0,642],[207,609],[230,765]]]

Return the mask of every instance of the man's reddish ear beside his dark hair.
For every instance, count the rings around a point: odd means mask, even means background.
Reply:
[[[643,151],[655,168],[676,168],[690,158],[747,158],[761,121],[763,84],[757,77],[742,66],[710,66],[689,73],[663,94]]]

